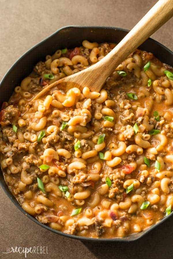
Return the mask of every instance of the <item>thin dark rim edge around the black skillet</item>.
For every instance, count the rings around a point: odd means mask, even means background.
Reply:
[[[0,88],[2,83],[5,81],[5,79],[7,78],[7,76],[9,75],[9,73],[13,70],[14,66],[16,66],[16,64],[22,60],[25,56],[27,56],[30,52],[32,52],[35,48],[37,48],[38,46],[42,45],[42,43],[46,42],[48,39],[50,39],[51,37],[53,37],[54,35],[58,34],[61,30],[63,29],[71,29],[71,28],[81,28],[81,29],[112,29],[112,30],[116,30],[116,31],[123,31],[123,32],[129,32],[129,30],[124,29],[124,28],[120,28],[120,27],[113,27],[113,26],[76,26],[76,25],[70,25],[70,26],[63,26],[61,28],[59,28],[57,31],[55,31],[54,33],[52,33],[51,35],[49,35],[48,37],[46,37],[45,39],[43,39],[42,41],[40,41],[39,43],[35,44],[33,47],[31,47],[29,50],[27,50],[24,54],[22,54],[22,56],[20,56],[15,62],[14,64],[8,69],[8,71],[5,73],[5,75],[3,76],[1,82],[0,82]],[[160,42],[152,39],[152,38],[148,38],[149,41],[152,43],[156,43],[157,45],[159,45],[161,48],[165,49],[171,56],[173,56],[173,52],[168,49],[166,46],[164,46],[163,44],[161,44]],[[148,40],[147,39],[147,40]],[[150,44],[151,44],[150,43]],[[3,174],[2,171],[0,169],[1,175],[2,175],[2,179],[3,179]],[[68,238],[73,238],[73,239],[78,239],[80,241],[90,241],[90,242],[132,242],[132,241],[136,241],[138,239],[140,239],[141,237],[143,237],[144,235],[146,235],[148,232],[152,231],[154,228],[156,228],[157,226],[159,226],[160,224],[162,224],[164,221],[166,221],[168,218],[170,218],[173,215],[173,211],[170,213],[170,215],[164,217],[162,220],[160,220],[157,224],[154,224],[151,227],[148,227],[146,230],[139,232],[139,233],[135,233],[132,235],[129,235],[127,237],[123,237],[123,238],[92,238],[92,237],[82,237],[82,236],[76,236],[76,235],[70,235],[70,234],[66,234],[63,233],[61,231],[55,230],[53,228],[50,228],[49,226],[42,224],[41,222],[39,222],[35,217],[31,216],[30,214],[28,214],[27,212],[25,212],[25,210],[23,210],[23,208],[20,206],[20,204],[18,203],[18,201],[16,200],[16,198],[12,195],[12,193],[10,192],[10,190],[8,189],[7,184],[5,183],[5,180],[3,179],[3,182],[1,182],[0,180],[0,186],[2,187],[3,191],[5,192],[5,194],[8,196],[8,198],[12,201],[12,203],[28,218],[30,218],[32,221],[34,221],[35,223],[37,223],[38,225],[42,226],[43,228],[46,228],[49,231],[52,231],[56,234],[62,235],[64,237],[68,237]],[[138,235],[138,237],[134,237],[135,235]],[[134,238],[133,238],[134,237]],[[130,239],[133,238],[133,239]]]

